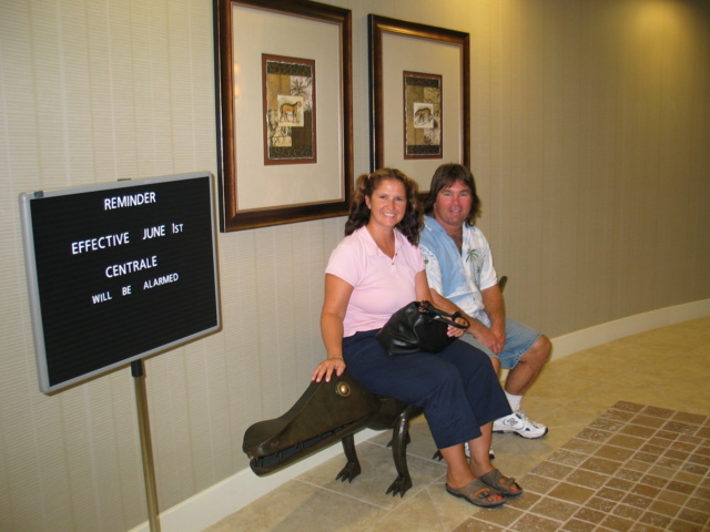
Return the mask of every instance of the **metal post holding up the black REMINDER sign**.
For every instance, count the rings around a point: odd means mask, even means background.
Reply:
[[[155,469],[153,468],[153,446],[151,444],[151,423],[148,416],[148,395],[145,392],[145,372],[143,359],[131,362],[131,375],[135,383],[135,406],[138,424],[141,433],[141,453],[143,456],[143,479],[145,481],[145,499],[148,502],[148,521],[152,532],[160,532],[160,513],[158,511],[158,490],[155,488]]]

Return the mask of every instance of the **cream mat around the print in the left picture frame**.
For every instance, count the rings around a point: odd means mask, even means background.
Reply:
[[[343,201],[339,27],[242,6],[232,14],[237,209]],[[262,53],[315,60],[315,164],[263,164]]]

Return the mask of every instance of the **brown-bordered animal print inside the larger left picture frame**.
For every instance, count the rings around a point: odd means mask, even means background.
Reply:
[[[262,54],[264,164],[315,163],[315,61]]]

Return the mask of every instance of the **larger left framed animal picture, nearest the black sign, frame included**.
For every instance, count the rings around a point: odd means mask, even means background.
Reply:
[[[347,214],[351,11],[215,0],[215,47],[222,231]]]

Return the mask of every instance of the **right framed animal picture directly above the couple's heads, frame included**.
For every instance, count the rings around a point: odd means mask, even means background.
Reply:
[[[371,14],[371,168],[426,193],[444,163],[470,166],[469,35]]]

